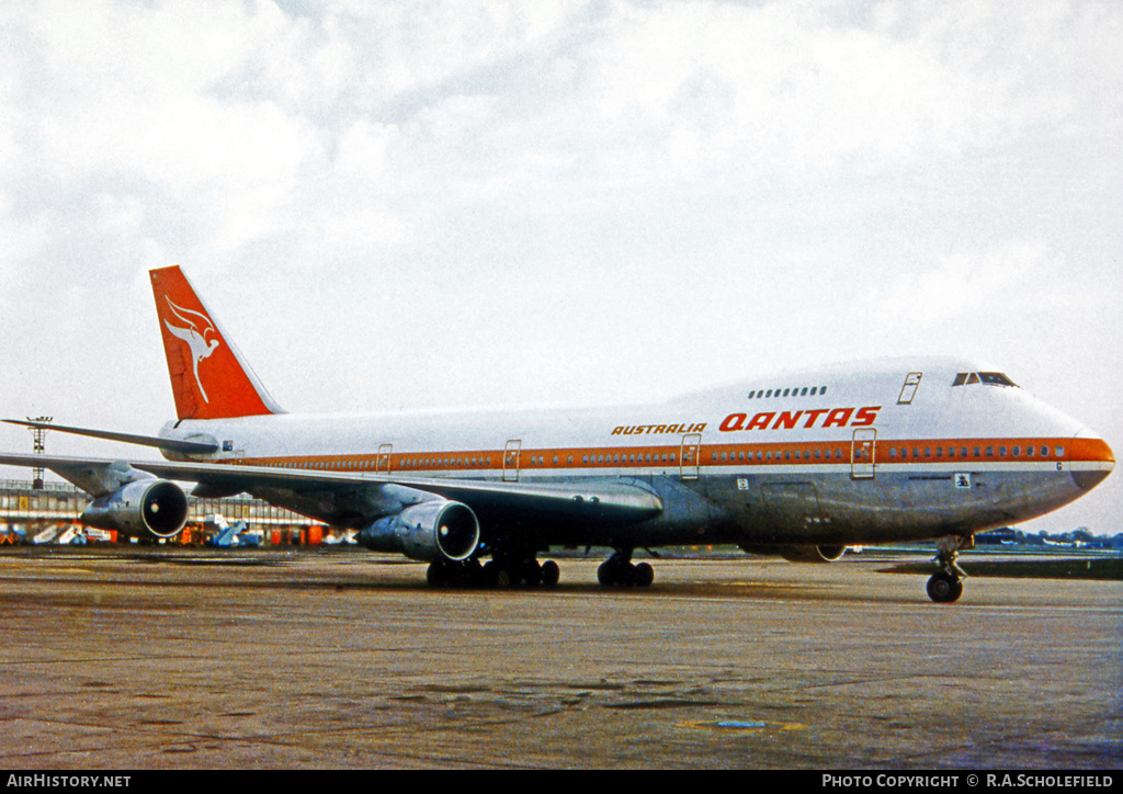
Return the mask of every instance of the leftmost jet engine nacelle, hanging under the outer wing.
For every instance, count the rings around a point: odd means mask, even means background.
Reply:
[[[82,522],[133,538],[166,540],[188,522],[188,498],[166,480],[137,480],[91,502]]]

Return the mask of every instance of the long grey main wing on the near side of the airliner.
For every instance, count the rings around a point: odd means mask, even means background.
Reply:
[[[259,490],[295,492],[380,491],[399,486],[464,502],[473,510],[511,518],[640,521],[663,511],[659,496],[636,481],[577,484],[518,483],[418,477],[372,472],[320,472],[272,466],[165,460],[113,460],[48,455],[0,454],[0,465],[48,468],[94,496],[111,493],[136,472],[198,483],[197,495],[234,495]],[[372,515],[371,519],[377,518]]]

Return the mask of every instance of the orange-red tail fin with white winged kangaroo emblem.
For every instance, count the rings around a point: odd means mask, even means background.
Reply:
[[[282,413],[179,265],[149,271],[180,419]]]

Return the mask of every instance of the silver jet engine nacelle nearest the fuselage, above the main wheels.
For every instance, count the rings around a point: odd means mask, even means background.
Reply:
[[[358,542],[375,551],[398,551],[427,563],[459,562],[480,546],[480,522],[468,505],[438,499],[378,519],[359,532]]]

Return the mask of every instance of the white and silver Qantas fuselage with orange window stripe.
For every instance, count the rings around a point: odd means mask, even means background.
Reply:
[[[646,546],[969,535],[1054,510],[1114,465],[1076,420],[953,359],[809,369],[655,405],[276,414],[185,420],[162,435],[219,445],[192,459],[255,466],[638,484],[665,510],[609,541]],[[310,509],[300,494],[265,495],[319,520],[372,518]],[[605,542],[603,527],[579,523],[523,531],[541,532],[546,545]]]

